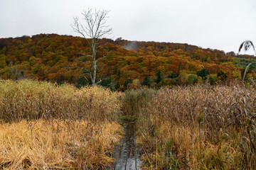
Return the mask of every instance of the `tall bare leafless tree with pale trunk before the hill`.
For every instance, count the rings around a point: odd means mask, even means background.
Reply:
[[[106,55],[102,55],[100,57],[96,57],[97,50],[99,47],[105,46],[106,43],[100,43],[102,38],[105,38],[105,35],[110,35],[112,33],[112,28],[106,25],[106,20],[108,18],[108,13],[105,9],[103,10],[92,10],[87,9],[87,11],[82,12],[82,21],[79,22],[78,17],[74,17],[74,22],[72,28],[76,33],[80,33],[91,48],[91,55],[85,55],[87,57],[91,57],[92,65],[90,69],[87,69],[87,74],[89,75],[90,82],[92,86],[97,83],[100,83],[102,79],[97,81],[97,61],[105,57]],[[87,79],[87,77],[85,77]],[[88,79],[87,79],[88,81]]]

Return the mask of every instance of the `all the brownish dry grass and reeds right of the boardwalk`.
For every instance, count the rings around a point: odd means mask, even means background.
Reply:
[[[255,92],[233,84],[152,94],[137,125],[144,168],[256,169]]]

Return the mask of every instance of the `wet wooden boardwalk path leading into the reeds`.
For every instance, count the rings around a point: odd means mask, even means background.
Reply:
[[[125,135],[121,143],[114,151],[114,159],[112,169],[128,170],[139,169],[141,161],[139,160],[139,146],[135,142],[135,124],[124,122]]]

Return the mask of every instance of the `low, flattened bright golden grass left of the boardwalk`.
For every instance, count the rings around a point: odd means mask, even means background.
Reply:
[[[32,125],[33,130],[29,125]],[[0,125],[1,169],[102,169],[122,135],[117,123],[88,128],[86,121],[68,125],[37,120]]]

